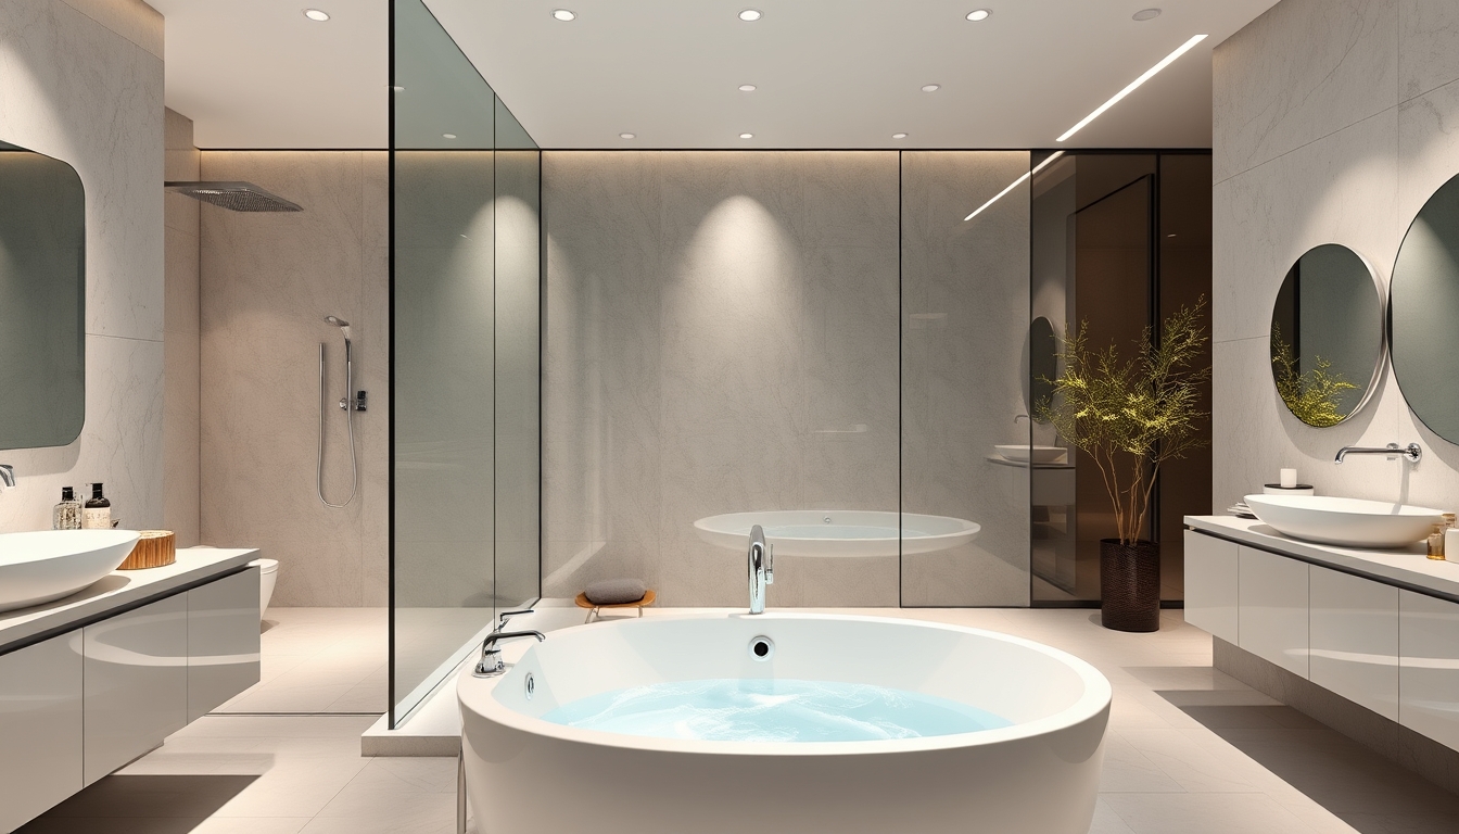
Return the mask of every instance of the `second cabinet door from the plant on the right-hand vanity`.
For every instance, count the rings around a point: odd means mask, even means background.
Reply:
[[[1236,644],[1307,678],[1307,562],[1247,546],[1237,554]]]

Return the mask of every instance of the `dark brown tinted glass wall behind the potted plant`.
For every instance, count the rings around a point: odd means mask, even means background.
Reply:
[[[1058,334],[1085,323],[1091,346],[1128,353],[1145,327],[1210,299],[1211,156],[1068,153],[1033,177],[1032,237],[1034,320]],[[1210,422],[1202,431],[1210,440]],[[1050,426],[1034,424],[1033,435],[1068,445]],[[1167,463],[1153,504],[1145,535],[1161,543],[1161,599],[1180,600],[1182,519],[1211,511],[1210,450]],[[1083,453],[1036,466],[1032,505],[1033,600],[1097,603],[1099,542],[1115,536],[1099,469]]]

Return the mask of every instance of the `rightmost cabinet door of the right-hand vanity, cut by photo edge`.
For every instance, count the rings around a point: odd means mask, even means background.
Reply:
[[[1399,592],[1398,720],[1459,751],[1459,603]]]

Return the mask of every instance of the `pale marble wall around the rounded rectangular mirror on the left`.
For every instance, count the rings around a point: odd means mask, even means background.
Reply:
[[[133,39],[160,16],[79,6],[0,4],[0,139],[76,168],[88,256],[86,425],[66,447],[0,451],[22,479],[0,530],[50,527],[61,486],[95,481],[128,526],[163,520],[162,60]]]

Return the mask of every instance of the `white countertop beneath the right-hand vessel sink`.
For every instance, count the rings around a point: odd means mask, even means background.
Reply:
[[[1236,516],[1186,516],[1185,526],[1201,533],[1288,554],[1388,584],[1430,590],[1450,599],[1459,599],[1459,562],[1430,559],[1427,556],[1428,548],[1423,543],[1414,543],[1399,551],[1316,545],[1282,536],[1258,519],[1237,519]]]

